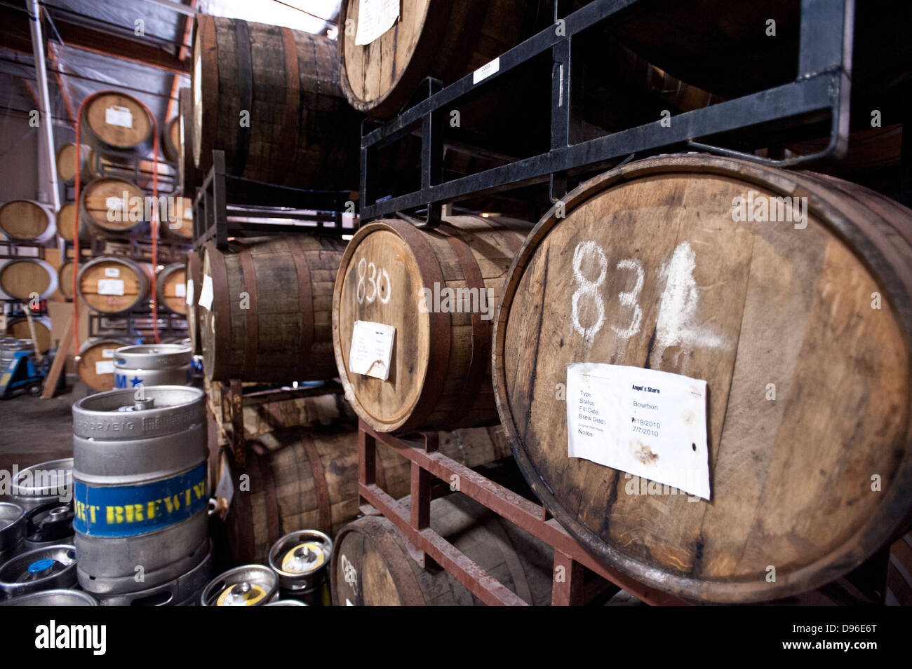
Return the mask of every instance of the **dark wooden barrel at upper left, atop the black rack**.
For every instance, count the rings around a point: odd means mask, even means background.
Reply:
[[[358,188],[359,117],[338,86],[332,40],[197,15],[192,88],[193,160],[203,172],[218,148],[235,177]]]

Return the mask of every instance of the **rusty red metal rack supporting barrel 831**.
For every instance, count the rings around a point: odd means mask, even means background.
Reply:
[[[515,593],[473,563],[440,534],[430,528],[431,486],[440,479],[475,502],[554,548],[554,574],[551,603],[556,606],[585,603],[584,570],[588,569],[623,588],[637,599],[660,605],[688,602],[669,593],[639,583],[625,573],[600,563],[562,528],[544,507],[526,500],[477,471],[472,471],[437,450],[437,432],[420,432],[418,441],[407,441],[371,430],[361,421],[358,426],[358,496],[361,511],[382,514],[406,539],[411,557],[422,567],[428,558],[450,572],[469,591],[489,605],[526,605]],[[377,483],[377,441],[411,461],[411,502],[406,508]],[[455,477],[455,478],[454,478]],[[557,577],[560,574],[560,578]]]

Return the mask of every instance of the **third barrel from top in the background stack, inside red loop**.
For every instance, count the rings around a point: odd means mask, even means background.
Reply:
[[[76,281],[79,299],[90,309],[109,314],[143,306],[152,285],[151,265],[114,256],[89,260]]]

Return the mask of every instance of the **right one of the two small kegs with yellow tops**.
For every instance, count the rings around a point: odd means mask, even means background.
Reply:
[[[332,552],[332,540],[316,530],[290,532],[275,542],[269,549],[269,567],[279,577],[282,595],[319,604]]]

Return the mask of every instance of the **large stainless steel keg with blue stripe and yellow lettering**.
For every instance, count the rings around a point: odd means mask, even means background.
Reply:
[[[149,590],[209,552],[205,396],[153,386],[73,405],[79,585],[96,595]]]

